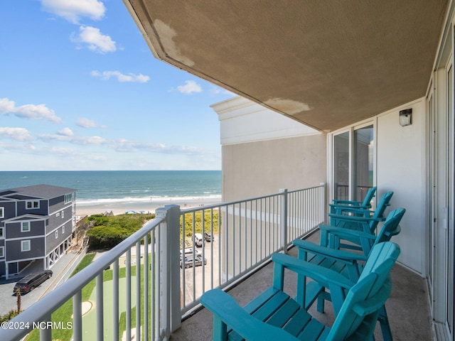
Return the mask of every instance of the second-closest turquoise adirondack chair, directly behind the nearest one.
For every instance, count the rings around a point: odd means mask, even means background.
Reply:
[[[326,227],[325,229],[321,229],[320,245],[301,239],[295,239],[293,244],[299,248],[298,257],[302,261],[309,261],[311,264],[337,271],[339,274],[349,278],[350,281],[358,281],[363,271],[363,264],[367,261],[372,248],[377,244],[390,241],[393,236],[400,233],[400,221],[403,215],[405,215],[405,212],[406,210],[404,208],[397,208],[390,212],[378,236],[339,227]],[[331,242],[331,237],[333,236],[336,236],[337,239],[352,240],[357,238],[358,244],[362,246],[363,252],[360,254],[358,252],[335,249],[333,242]],[[305,278],[300,278],[299,281],[306,283]],[[317,309],[323,313],[324,301],[331,301],[330,293],[326,292],[325,288],[322,288],[315,281],[306,283],[306,288],[299,288],[299,290],[305,291],[306,293],[304,296],[306,308],[309,308],[317,298]],[[301,295],[303,294],[301,293]],[[333,305],[335,313],[338,311],[339,304]],[[383,340],[392,340],[392,332],[390,331],[385,307],[381,308],[378,320],[380,322]]]

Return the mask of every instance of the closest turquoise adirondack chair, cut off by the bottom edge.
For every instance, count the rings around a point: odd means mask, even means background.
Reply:
[[[379,310],[390,296],[390,270],[399,254],[400,247],[395,243],[375,245],[356,283],[322,266],[274,254],[272,287],[245,308],[220,289],[210,290],[200,298],[213,313],[213,340],[373,340]],[[332,295],[347,291],[331,327],[312,317],[299,295],[293,299],[284,292],[284,269],[321,282],[331,288]]]

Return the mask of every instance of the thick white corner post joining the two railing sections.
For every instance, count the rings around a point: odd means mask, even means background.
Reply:
[[[161,288],[160,320],[164,340],[181,326],[180,308],[180,206],[166,205],[155,211],[156,217],[164,217],[161,223],[161,264],[159,278]],[[163,335],[162,332],[160,332]]]

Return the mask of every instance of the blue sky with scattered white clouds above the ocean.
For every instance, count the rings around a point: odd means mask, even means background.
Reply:
[[[122,1],[0,1],[0,171],[221,169],[211,104]]]

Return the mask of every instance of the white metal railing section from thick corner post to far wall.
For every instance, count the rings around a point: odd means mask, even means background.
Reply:
[[[198,307],[205,291],[234,285],[275,252],[287,252],[293,239],[321,224],[326,217],[325,191],[321,184],[182,210],[181,245],[188,244],[188,237],[191,242],[189,268],[181,269],[183,318]],[[195,247],[196,234],[203,232],[210,232],[213,242],[203,238],[200,247]],[[207,261],[205,266],[191,260],[198,255]]]

